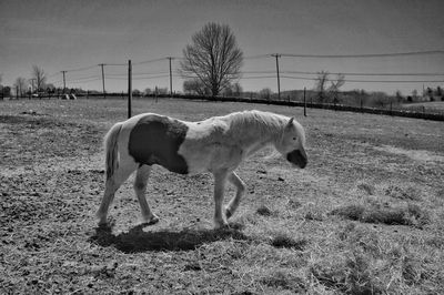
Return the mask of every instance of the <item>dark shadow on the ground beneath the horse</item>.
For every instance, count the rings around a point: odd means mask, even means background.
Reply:
[[[205,243],[233,238],[250,241],[239,228],[183,230],[181,232],[144,232],[147,225],[137,225],[128,233],[114,235],[112,227],[99,226],[89,242],[103,247],[115,247],[124,253],[148,251],[190,251]]]

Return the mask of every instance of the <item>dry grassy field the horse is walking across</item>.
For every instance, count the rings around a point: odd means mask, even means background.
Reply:
[[[1,294],[444,294],[444,123],[242,103],[133,101],[201,120],[260,109],[305,126],[309,165],[243,163],[230,230],[212,179],[155,167],[138,225],[128,181],[97,227],[102,136],[123,100],[0,102]],[[229,190],[228,197],[234,193]]]

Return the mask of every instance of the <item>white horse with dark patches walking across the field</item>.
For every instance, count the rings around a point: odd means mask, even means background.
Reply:
[[[104,138],[105,189],[97,212],[99,225],[107,224],[115,191],[134,172],[133,189],[142,211],[143,224],[155,224],[145,189],[152,165],[180,174],[212,173],[214,177],[214,228],[229,227],[245,183],[234,172],[249,156],[265,146],[274,146],[293,166],[307,164],[305,132],[294,119],[263,111],[242,111],[188,122],[170,116],[143,113],[114,124]],[[226,183],[235,186],[234,197],[225,206]]]

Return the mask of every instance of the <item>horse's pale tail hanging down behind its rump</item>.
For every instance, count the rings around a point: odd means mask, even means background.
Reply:
[[[104,136],[105,152],[105,175],[107,180],[111,179],[114,171],[119,167],[119,135],[122,129],[122,123],[114,124]]]

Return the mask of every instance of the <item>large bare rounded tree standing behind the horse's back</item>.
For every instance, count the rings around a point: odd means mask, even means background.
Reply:
[[[210,22],[183,50],[181,74],[198,79],[216,96],[240,78],[243,53],[229,26]]]

